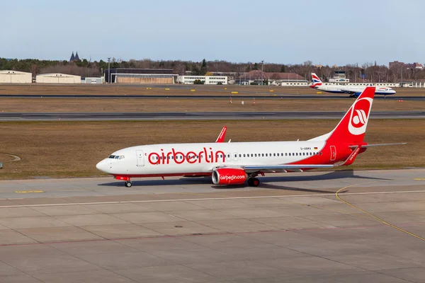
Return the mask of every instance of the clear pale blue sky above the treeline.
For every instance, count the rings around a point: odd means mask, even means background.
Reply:
[[[423,0],[1,2],[6,58],[425,62]]]

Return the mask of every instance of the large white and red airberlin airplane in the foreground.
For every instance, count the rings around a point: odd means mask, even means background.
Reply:
[[[258,186],[264,173],[302,172],[353,163],[368,146],[363,141],[375,88],[368,87],[331,132],[307,141],[222,142],[223,128],[215,143],[152,144],[115,151],[100,161],[98,170],[124,180],[166,176],[212,176],[215,185],[248,181]]]

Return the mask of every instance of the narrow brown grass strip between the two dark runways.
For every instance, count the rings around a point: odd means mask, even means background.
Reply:
[[[244,101],[244,105],[242,105]],[[95,99],[95,98],[0,98],[0,112],[267,112],[344,111],[347,99]],[[374,111],[424,110],[424,101],[375,100]]]

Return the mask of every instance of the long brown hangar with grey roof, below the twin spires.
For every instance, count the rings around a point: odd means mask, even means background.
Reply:
[[[177,74],[173,69],[106,69],[107,83],[173,84]]]

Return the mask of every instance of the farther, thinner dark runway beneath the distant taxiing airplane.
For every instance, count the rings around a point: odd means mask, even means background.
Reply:
[[[309,95],[309,94],[296,94],[296,93],[261,93],[254,91],[239,91],[240,93],[249,93],[249,94],[232,94],[228,95],[173,95],[171,94],[161,94],[161,95],[126,95],[124,94],[0,94],[0,98],[123,98],[123,99],[229,99],[241,98],[241,99],[352,99],[348,95]],[[425,96],[375,96],[375,99],[389,99],[389,100],[417,100],[425,101]]]

